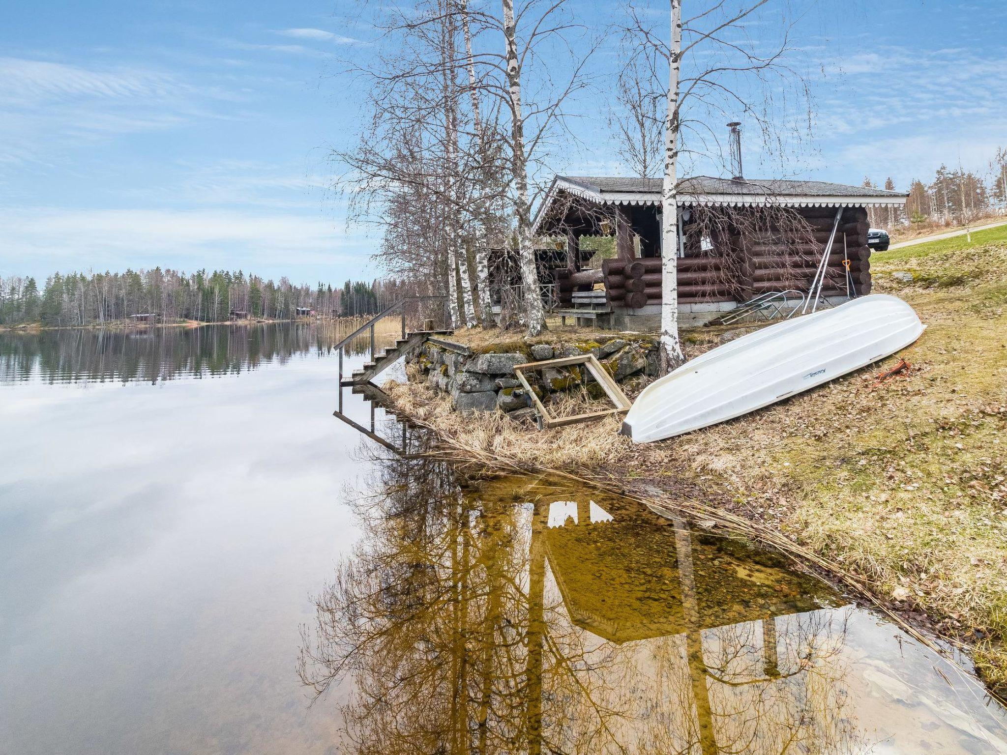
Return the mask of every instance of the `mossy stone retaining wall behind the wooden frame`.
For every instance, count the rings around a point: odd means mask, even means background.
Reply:
[[[600,342],[512,344],[511,348],[506,352],[464,353],[467,349],[462,346],[454,350],[428,341],[406,361],[419,367],[421,380],[430,388],[449,394],[459,412],[500,411],[519,416],[532,410],[530,397],[515,376],[516,364],[593,353],[616,383],[658,374],[657,341],[631,334],[613,334]],[[582,368],[544,369],[526,376],[541,396],[579,385]]]

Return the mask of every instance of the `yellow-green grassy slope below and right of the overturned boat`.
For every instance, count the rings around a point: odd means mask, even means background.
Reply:
[[[927,324],[899,354],[908,376],[851,375],[680,450],[726,475],[749,514],[973,644],[1005,685],[1007,226],[878,254],[872,268],[875,292]]]

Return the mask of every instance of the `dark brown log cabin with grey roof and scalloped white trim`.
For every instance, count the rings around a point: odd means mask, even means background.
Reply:
[[[537,254],[559,311],[608,310],[620,328],[660,324],[661,188],[653,178],[556,176],[534,232],[553,240],[540,242],[551,248]],[[833,303],[847,298],[844,259],[854,293],[869,293],[867,207],[903,206],[905,199],[895,191],[823,181],[684,179],[676,250],[683,322],[712,319],[767,291],[807,292],[839,210],[822,294]],[[793,233],[798,217],[807,221],[800,238]],[[614,236],[613,259],[601,261],[595,249],[582,247],[581,239],[599,236]]]

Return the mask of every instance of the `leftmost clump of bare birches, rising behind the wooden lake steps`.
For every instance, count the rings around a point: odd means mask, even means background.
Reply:
[[[354,221],[383,229],[380,257],[386,267],[417,282],[437,281],[452,323],[470,327],[476,319],[464,230],[474,219],[473,197],[505,189],[477,186],[483,175],[469,169],[480,158],[472,115],[462,107],[462,95],[471,87],[459,86],[462,14],[457,0],[383,7],[381,13],[375,22],[383,32],[380,50],[367,65],[347,63],[344,71],[365,85],[368,117],[355,145],[332,150],[343,169],[336,187],[349,196]],[[481,114],[479,121],[483,133],[492,131]],[[433,221],[415,217],[404,196],[427,207]],[[401,233],[404,217],[412,236]],[[488,291],[485,281],[477,285]]]

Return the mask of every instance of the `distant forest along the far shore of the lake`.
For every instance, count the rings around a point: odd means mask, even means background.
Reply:
[[[249,317],[291,319],[297,308],[321,317],[352,317],[382,311],[407,296],[395,281],[346,281],[341,288],[318,283],[295,286],[242,271],[127,270],[51,276],[43,287],[34,278],[0,279],[0,325],[93,325],[157,315],[161,321],[220,322],[232,312]]]

